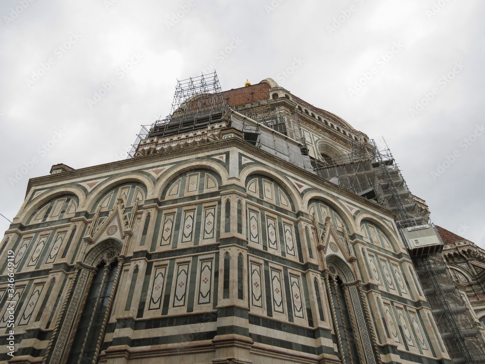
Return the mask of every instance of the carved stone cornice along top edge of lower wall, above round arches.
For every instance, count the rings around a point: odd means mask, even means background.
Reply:
[[[359,203],[360,205],[365,206],[370,210],[378,211],[381,214],[390,217],[391,219],[395,218],[395,214],[392,211],[385,208],[384,206],[381,206],[359,195],[356,195],[355,193],[348,191],[345,188],[340,187],[332,182],[328,182],[323,178],[313,174],[312,172],[306,171],[302,168],[292,165],[290,162],[284,161],[262,149],[259,149],[251,145],[250,143],[243,141],[240,138],[232,137],[232,138],[217,140],[203,145],[203,150],[205,152],[212,152],[212,151],[217,151],[217,150],[226,149],[226,148],[241,149],[247,154],[250,154],[263,161],[267,161],[268,164],[277,165],[281,169],[291,172],[297,176],[301,176],[303,179],[306,179],[307,181],[317,186],[320,185],[322,186],[323,189],[329,192],[333,192],[337,195],[346,197],[348,199],[352,199],[357,203]],[[42,185],[46,185],[49,183],[56,183],[56,182],[68,182],[70,180],[81,178],[81,177],[96,176],[97,174],[106,173],[107,171],[117,172],[125,169],[134,169],[136,167],[145,166],[147,164],[151,164],[154,162],[170,161],[170,160],[173,160],[174,158],[193,155],[198,151],[200,151],[200,149],[201,149],[201,146],[192,146],[192,147],[187,147],[182,149],[174,149],[174,150],[170,150],[162,153],[155,153],[155,154],[146,155],[142,157],[135,157],[135,158],[125,159],[122,161],[110,162],[102,165],[95,165],[91,167],[76,169],[69,172],[31,178],[27,185],[26,197],[29,194],[30,190],[36,186],[42,186]]]

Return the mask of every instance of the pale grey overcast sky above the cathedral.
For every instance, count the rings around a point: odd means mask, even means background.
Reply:
[[[485,248],[484,1],[2,0],[0,15],[10,220],[29,178],[124,159],[177,79],[215,67],[223,90],[271,77],[384,137],[432,221]]]

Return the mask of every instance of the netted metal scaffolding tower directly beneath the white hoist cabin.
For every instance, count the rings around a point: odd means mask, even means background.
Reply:
[[[413,263],[453,363],[485,363],[485,342],[443,255],[415,257]]]

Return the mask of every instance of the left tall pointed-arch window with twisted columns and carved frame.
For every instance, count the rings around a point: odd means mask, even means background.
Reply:
[[[124,263],[121,248],[117,240],[102,241],[76,265],[42,363],[97,363]]]

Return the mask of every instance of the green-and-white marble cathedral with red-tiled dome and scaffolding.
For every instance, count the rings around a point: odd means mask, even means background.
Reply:
[[[178,81],[126,160],[32,178],[0,248],[2,363],[485,363],[485,250],[269,78]]]

